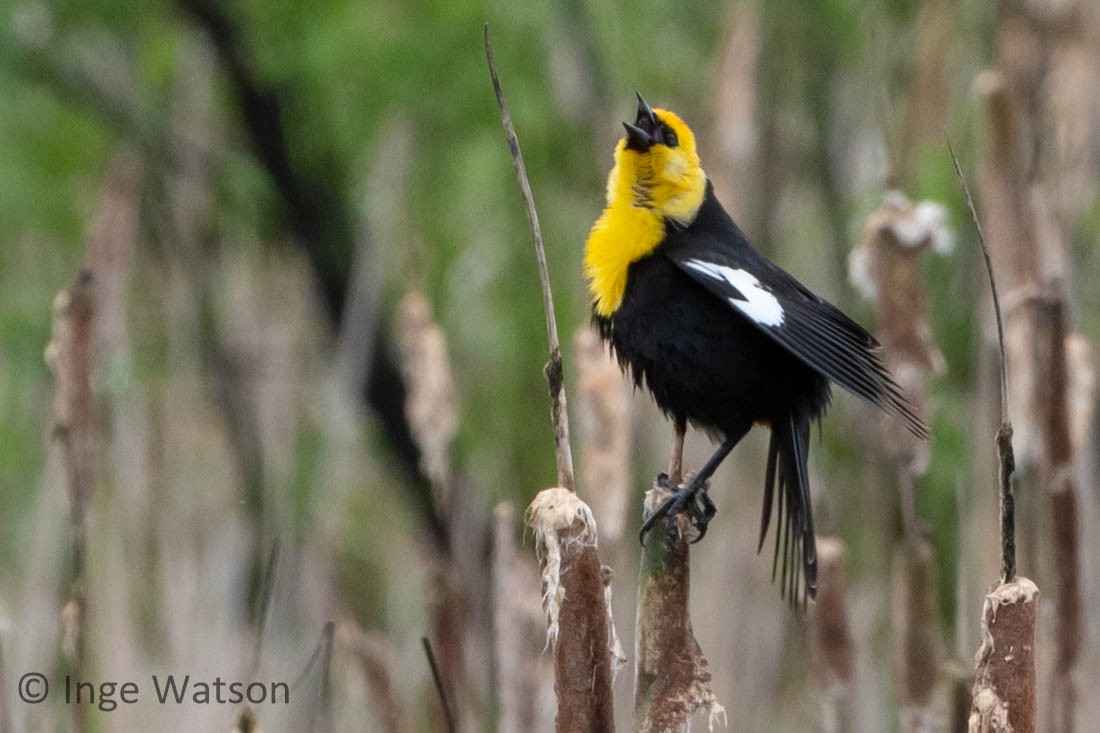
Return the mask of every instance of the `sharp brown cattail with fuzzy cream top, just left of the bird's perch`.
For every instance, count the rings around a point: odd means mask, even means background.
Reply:
[[[614,731],[612,677],[623,653],[595,518],[575,493],[556,488],[538,493],[526,521],[535,533],[547,644],[554,655],[556,730]]]

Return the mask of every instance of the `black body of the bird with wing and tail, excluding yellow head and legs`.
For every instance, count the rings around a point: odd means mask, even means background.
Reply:
[[[667,223],[661,243],[630,264],[622,304],[595,321],[624,370],[673,419],[726,444],[754,424],[771,428],[760,540],[774,506],[781,587],[792,598],[800,586],[810,595],[815,590],[806,460],[829,381],[927,436],[876,340],[759,254],[710,182],[694,219]]]

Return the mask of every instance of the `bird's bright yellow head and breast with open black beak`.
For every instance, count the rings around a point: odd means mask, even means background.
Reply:
[[[691,223],[706,194],[695,135],[675,113],[652,109],[638,95],[638,116],[623,127],[607,207],[584,248],[588,292],[603,317],[622,305],[630,264],[657,249],[666,227]]]

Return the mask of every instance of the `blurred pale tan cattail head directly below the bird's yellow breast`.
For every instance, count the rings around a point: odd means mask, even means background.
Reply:
[[[600,521],[600,547],[608,564],[626,522],[630,479],[630,392],[595,329],[573,337],[576,351],[576,416],[581,438],[581,485]]]

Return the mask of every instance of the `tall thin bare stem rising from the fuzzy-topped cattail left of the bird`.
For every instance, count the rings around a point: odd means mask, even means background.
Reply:
[[[496,74],[496,67],[493,65],[493,46],[488,42],[487,23],[484,30],[484,41],[485,59],[488,62],[488,73],[493,79],[493,90],[496,92],[496,103],[501,110],[504,135],[508,141],[508,151],[512,153],[512,162],[516,166],[516,177],[519,179],[519,189],[524,195],[524,210],[527,212],[527,222],[530,225],[531,234],[535,238],[535,256],[539,263],[539,281],[542,283],[542,306],[546,309],[547,335],[550,340],[550,362],[547,364],[546,374],[547,380],[550,382],[550,397],[553,401],[550,415],[553,420],[553,438],[558,459],[558,485],[572,491],[573,456],[569,445],[569,415],[562,376],[561,346],[558,341],[558,322],[553,315],[553,294],[550,291],[550,274],[547,269],[546,250],[542,247],[542,230],[539,227],[538,211],[535,209],[531,184],[527,179],[527,166],[524,165],[524,154],[519,150],[519,139],[516,136],[516,129],[512,123],[508,105],[504,100],[504,89],[501,88],[501,78]]]

